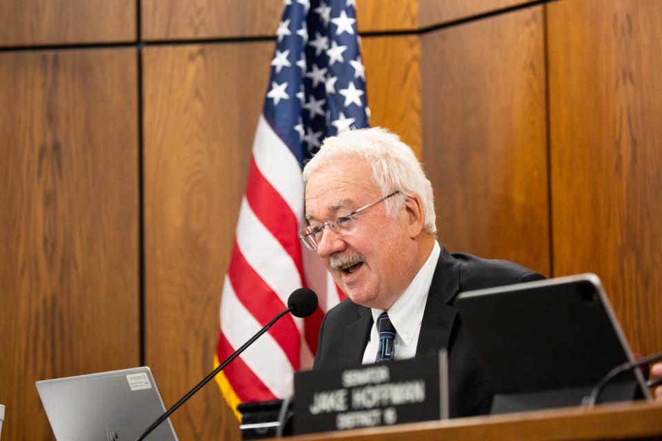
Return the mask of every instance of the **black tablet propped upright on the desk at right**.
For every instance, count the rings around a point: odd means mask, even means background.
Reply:
[[[494,388],[492,413],[581,404],[632,353],[595,274],[478,291],[454,300]],[[600,402],[650,398],[636,371]]]

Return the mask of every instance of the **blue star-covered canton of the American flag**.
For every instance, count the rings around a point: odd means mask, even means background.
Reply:
[[[321,141],[368,127],[354,0],[285,0],[264,116],[303,167]]]

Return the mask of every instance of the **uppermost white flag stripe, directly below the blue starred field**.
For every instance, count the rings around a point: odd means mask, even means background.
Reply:
[[[294,154],[260,115],[253,142],[253,157],[261,174],[285,199],[298,219],[303,217],[301,166]]]

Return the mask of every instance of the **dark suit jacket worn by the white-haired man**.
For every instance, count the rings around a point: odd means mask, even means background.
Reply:
[[[506,260],[450,254],[441,249],[428,291],[416,353],[448,350],[450,418],[488,413],[494,396],[457,310],[450,302],[461,291],[542,278]],[[370,308],[355,305],[350,299],[330,309],[319,330],[313,369],[360,365],[371,327]]]

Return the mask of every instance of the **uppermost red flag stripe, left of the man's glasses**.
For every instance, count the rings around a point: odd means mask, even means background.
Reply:
[[[250,158],[248,184],[246,185],[246,200],[255,216],[269,230],[290,254],[294,265],[297,265],[299,276],[303,280],[303,265],[301,263],[301,245],[299,245],[299,223],[297,217],[283,196],[271,185],[257,168],[254,156]],[[294,277],[294,274],[292,274]]]

